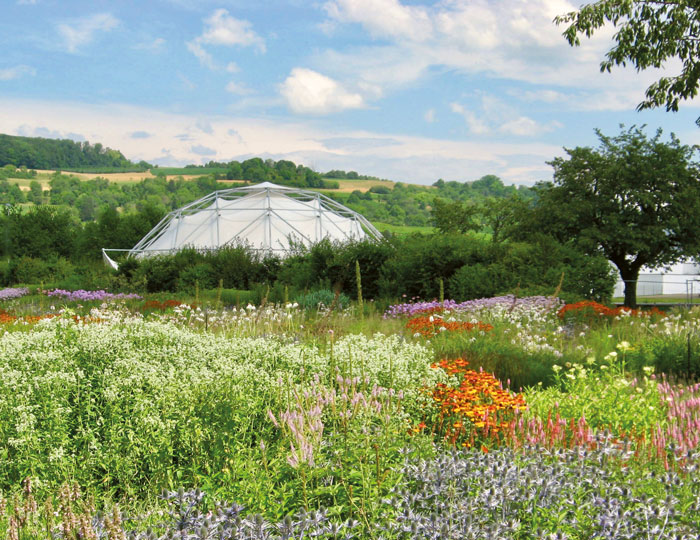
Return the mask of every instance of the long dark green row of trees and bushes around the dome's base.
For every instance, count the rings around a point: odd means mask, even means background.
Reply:
[[[68,210],[48,206],[29,212],[6,208],[0,285],[44,283],[67,289],[187,292],[196,287],[269,287],[270,300],[314,290],[357,295],[356,264],[366,299],[468,300],[503,293],[552,294],[559,285],[568,299],[607,299],[615,278],[605,258],[583,256],[545,234],[504,236],[474,233],[390,236],[381,242],[323,241],[281,259],[244,245],[213,253],[184,249],[176,255],[127,259],[114,273],[101,262],[101,248],[133,247],[162,217],[152,206],[119,214],[105,208],[82,224]]]

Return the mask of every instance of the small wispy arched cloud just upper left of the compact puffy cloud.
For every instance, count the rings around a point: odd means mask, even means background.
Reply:
[[[204,46],[254,47],[264,53],[265,40],[255,33],[252,26],[249,21],[232,17],[225,9],[217,9],[211,16],[204,19],[202,34],[188,41],[186,45],[189,51],[209,69],[231,71],[232,66],[236,66],[235,63],[231,62],[223,68],[220,67]]]

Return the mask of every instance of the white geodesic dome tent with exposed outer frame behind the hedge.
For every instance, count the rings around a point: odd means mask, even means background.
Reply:
[[[184,247],[215,250],[243,243],[284,257],[293,243],[311,246],[324,238],[379,239],[381,233],[363,216],[321,193],[264,182],[214,191],[170,212],[125,251],[143,257]],[[107,255],[111,251],[122,250],[102,250],[115,266]]]

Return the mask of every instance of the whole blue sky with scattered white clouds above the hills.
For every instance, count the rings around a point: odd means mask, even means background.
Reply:
[[[700,100],[637,112],[661,72],[600,72],[614,29],[569,46],[553,19],[577,6],[0,0],[0,133],[417,184],[551,180],[547,161],[621,124],[700,144]]]

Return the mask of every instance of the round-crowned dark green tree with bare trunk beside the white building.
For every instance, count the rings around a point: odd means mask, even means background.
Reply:
[[[625,305],[637,303],[643,266],[665,267],[700,251],[700,169],[696,148],[659,129],[648,139],[632,127],[615,137],[596,131],[597,149],[566,149],[556,158],[554,183],[536,206],[540,230],[603,254],[625,282]]]

